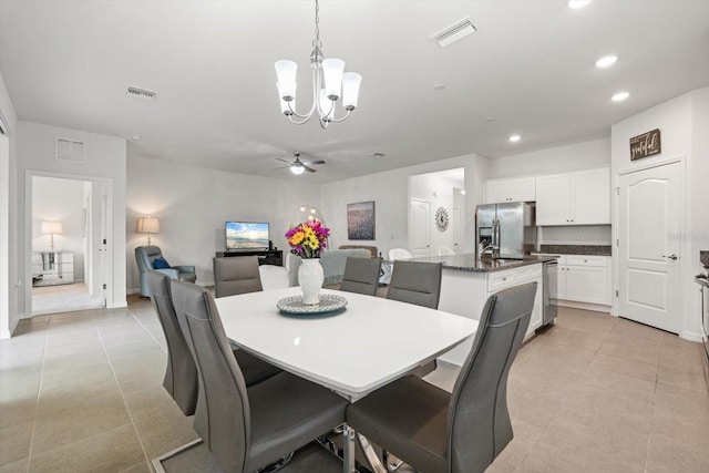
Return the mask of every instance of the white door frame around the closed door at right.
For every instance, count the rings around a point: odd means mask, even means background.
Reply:
[[[612,257],[612,261],[613,261],[613,294],[612,294],[612,307],[610,307],[610,315],[618,317],[618,296],[617,296],[617,291],[620,285],[620,260],[618,258],[618,243],[619,243],[619,228],[620,228],[620,220],[619,220],[619,214],[620,214],[620,198],[619,198],[619,192],[620,192],[620,176],[627,176],[629,174],[633,173],[637,173],[637,172],[643,172],[643,171],[647,171],[647,169],[651,169],[654,167],[662,167],[662,166],[667,166],[670,164],[676,164],[678,163],[680,168],[679,168],[679,188],[680,188],[680,205],[681,205],[681,209],[680,209],[680,215],[679,215],[679,228],[677,229],[677,234],[678,235],[686,235],[686,230],[687,230],[687,161],[686,161],[686,156],[685,155],[680,155],[680,156],[675,156],[675,157],[669,157],[666,160],[661,160],[661,161],[655,161],[655,162],[648,162],[647,164],[640,164],[637,166],[633,166],[633,167],[626,167],[619,171],[616,171],[614,173],[613,176],[613,189],[612,189],[612,194],[613,194],[613,239],[612,239],[612,247],[614,248],[614,250],[612,251],[613,257]],[[685,259],[687,258],[688,253],[688,241],[685,238],[684,241],[680,241],[680,248],[681,248],[681,255],[680,255],[680,259],[679,259],[679,285],[680,288],[686,287],[686,275],[685,275]],[[681,329],[680,329],[680,333],[679,336],[682,338],[687,338],[686,337],[686,332],[685,332],[685,315],[687,313],[687,301],[686,298],[682,297],[684,304],[681,306],[682,308],[682,315],[681,315]]]

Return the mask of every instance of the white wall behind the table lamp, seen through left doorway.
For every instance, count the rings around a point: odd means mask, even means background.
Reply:
[[[74,254],[74,280],[84,280],[83,233],[84,182],[34,177],[32,185],[32,250],[49,251],[50,235],[42,235],[42,222],[60,222],[62,234],[54,235],[54,249]]]

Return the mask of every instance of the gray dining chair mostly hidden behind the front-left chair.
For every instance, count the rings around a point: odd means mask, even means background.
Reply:
[[[197,367],[189,353],[185,335],[173,307],[169,294],[171,277],[158,271],[147,271],[146,278],[151,300],[163,327],[167,345],[167,369],[163,385],[184,414],[192,415],[197,405]],[[239,350],[234,346],[230,348],[242,367],[246,385],[257,384],[282,371],[247,351]]]

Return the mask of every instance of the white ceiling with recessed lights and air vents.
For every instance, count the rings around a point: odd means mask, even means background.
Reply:
[[[359,107],[325,131],[296,126],[280,115],[273,64],[298,62],[305,106],[314,8],[0,0],[0,71],[21,120],[143,136],[130,156],[310,183],[609,136],[612,124],[709,85],[709,1],[321,0],[323,53],[363,75]],[[466,16],[473,35],[444,49],[430,39]],[[618,62],[597,69],[608,53]],[[160,95],[130,99],[129,85]],[[612,102],[621,90],[630,97]],[[513,133],[522,141],[508,143]],[[296,150],[327,164],[274,169]]]

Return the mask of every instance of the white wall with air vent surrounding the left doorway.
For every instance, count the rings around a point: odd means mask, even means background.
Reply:
[[[55,160],[56,137],[81,141],[85,143],[85,162],[74,163]],[[18,123],[18,188],[17,208],[20,216],[18,225],[18,244],[14,250],[23,263],[19,268],[19,278],[24,285],[24,300],[18,307],[22,315],[27,313],[31,305],[30,254],[32,250],[31,212],[32,176],[75,178],[91,181],[97,186],[106,186],[112,199],[107,206],[107,217],[112,225],[109,238],[112,273],[107,275],[109,307],[125,307],[125,140],[88,133],[78,130],[42,125],[39,123]],[[94,208],[100,213],[101,207]],[[100,222],[99,218],[93,220]],[[93,232],[95,239],[93,248],[100,247],[100,232]],[[94,258],[99,259],[99,258]]]

